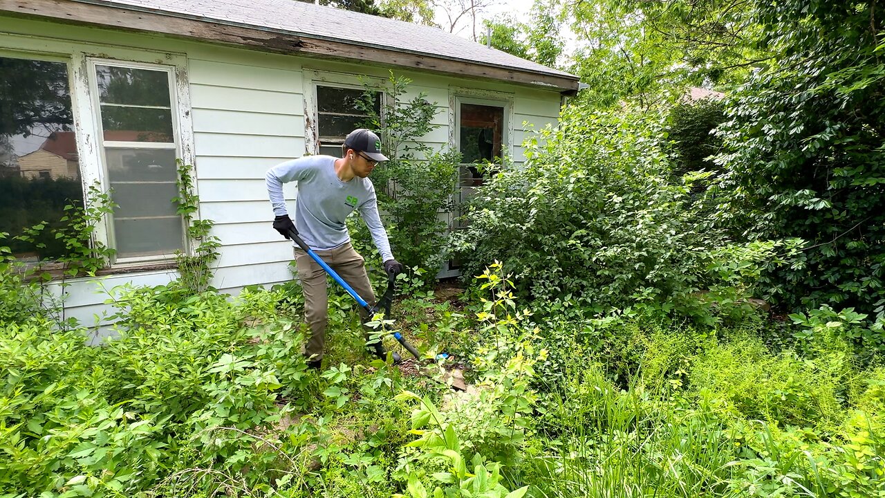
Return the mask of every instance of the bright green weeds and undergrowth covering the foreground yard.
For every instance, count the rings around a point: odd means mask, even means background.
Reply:
[[[319,373],[297,353],[292,288],[119,288],[103,347],[81,327],[6,321],[0,494],[885,493],[885,372],[851,361],[837,332],[853,316],[773,352],[776,326],[548,316],[515,284],[493,265],[461,309],[430,294],[389,323],[422,351],[461,352],[461,394],[355,355],[337,292]]]

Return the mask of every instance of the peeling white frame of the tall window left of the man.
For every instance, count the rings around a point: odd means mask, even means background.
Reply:
[[[181,68],[176,67],[175,65],[165,65],[165,64],[156,64],[156,63],[146,63],[140,61],[132,61],[118,58],[99,58],[99,57],[86,57],[86,71],[87,71],[87,79],[89,82],[89,103],[90,107],[90,118],[91,118],[91,127],[89,127],[93,132],[93,143],[96,144],[96,159],[97,159],[97,167],[96,173],[98,173],[97,180],[102,185],[102,190],[108,191],[111,187],[109,181],[109,175],[107,171],[107,158],[105,157],[105,148],[126,148],[126,149],[144,149],[144,150],[173,150],[175,152],[175,158],[184,160],[186,164],[193,164],[193,158],[188,157],[192,154],[186,153],[189,151],[189,147],[184,144],[184,133],[183,129],[191,129],[190,125],[190,113],[189,113],[189,105],[185,107],[181,105],[182,100],[189,101],[187,94],[182,95],[182,90],[186,89],[186,86],[183,86],[179,81],[179,78],[176,76],[179,74],[183,74]],[[152,71],[165,71],[167,74],[168,82],[169,82],[169,103],[172,107],[172,122],[173,122],[173,143],[155,143],[155,142],[116,142],[116,141],[104,141],[104,129],[102,127],[102,119],[101,119],[101,103],[100,103],[100,91],[98,90],[98,82],[96,77],[96,66],[116,66],[116,67],[132,67],[135,69],[148,69]],[[85,128],[85,127],[84,127]],[[191,141],[192,143],[192,141]],[[177,178],[177,176],[176,176]],[[171,200],[171,199],[170,199]],[[99,230],[100,234],[104,237],[104,244],[109,247],[116,247],[116,234],[114,233],[114,223],[113,223],[113,214],[105,216],[104,218],[104,227],[103,230]],[[184,226],[184,219],[181,219],[181,227],[182,227],[182,240],[181,247],[184,253],[190,253],[192,248],[190,246],[189,237],[187,235],[187,227]],[[114,257],[111,261],[111,266],[113,267],[126,267],[143,263],[156,263],[156,262],[164,262],[164,261],[173,261],[175,258],[174,253],[169,254],[159,254],[159,255],[145,255],[145,256],[137,256],[137,257],[128,257],[128,258],[118,258]]]

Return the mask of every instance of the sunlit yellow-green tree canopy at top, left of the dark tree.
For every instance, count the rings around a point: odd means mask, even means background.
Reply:
[[[581,0],[566,16],[580,43],[570,70],[600,106],[648,108],[688,86],[742,81],[766,59],[748,0]]]

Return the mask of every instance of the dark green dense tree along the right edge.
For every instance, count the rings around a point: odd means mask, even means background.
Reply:
[[[802,237],[766,275],[783,307],[885,303],[885,62],[875,0],[759,1],[755,43],[775,57],[735,92],[712,189],[735,237]]]

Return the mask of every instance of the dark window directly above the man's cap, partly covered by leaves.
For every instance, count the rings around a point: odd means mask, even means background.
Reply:
[[[363,89],[345,89],[317,86],[317,135],[319,153],[341,157],[344,137],[357,128],[369,126],[366,105],[375,115],[381,115],[381,92],[375,92],[372,102],[364,102]]]

